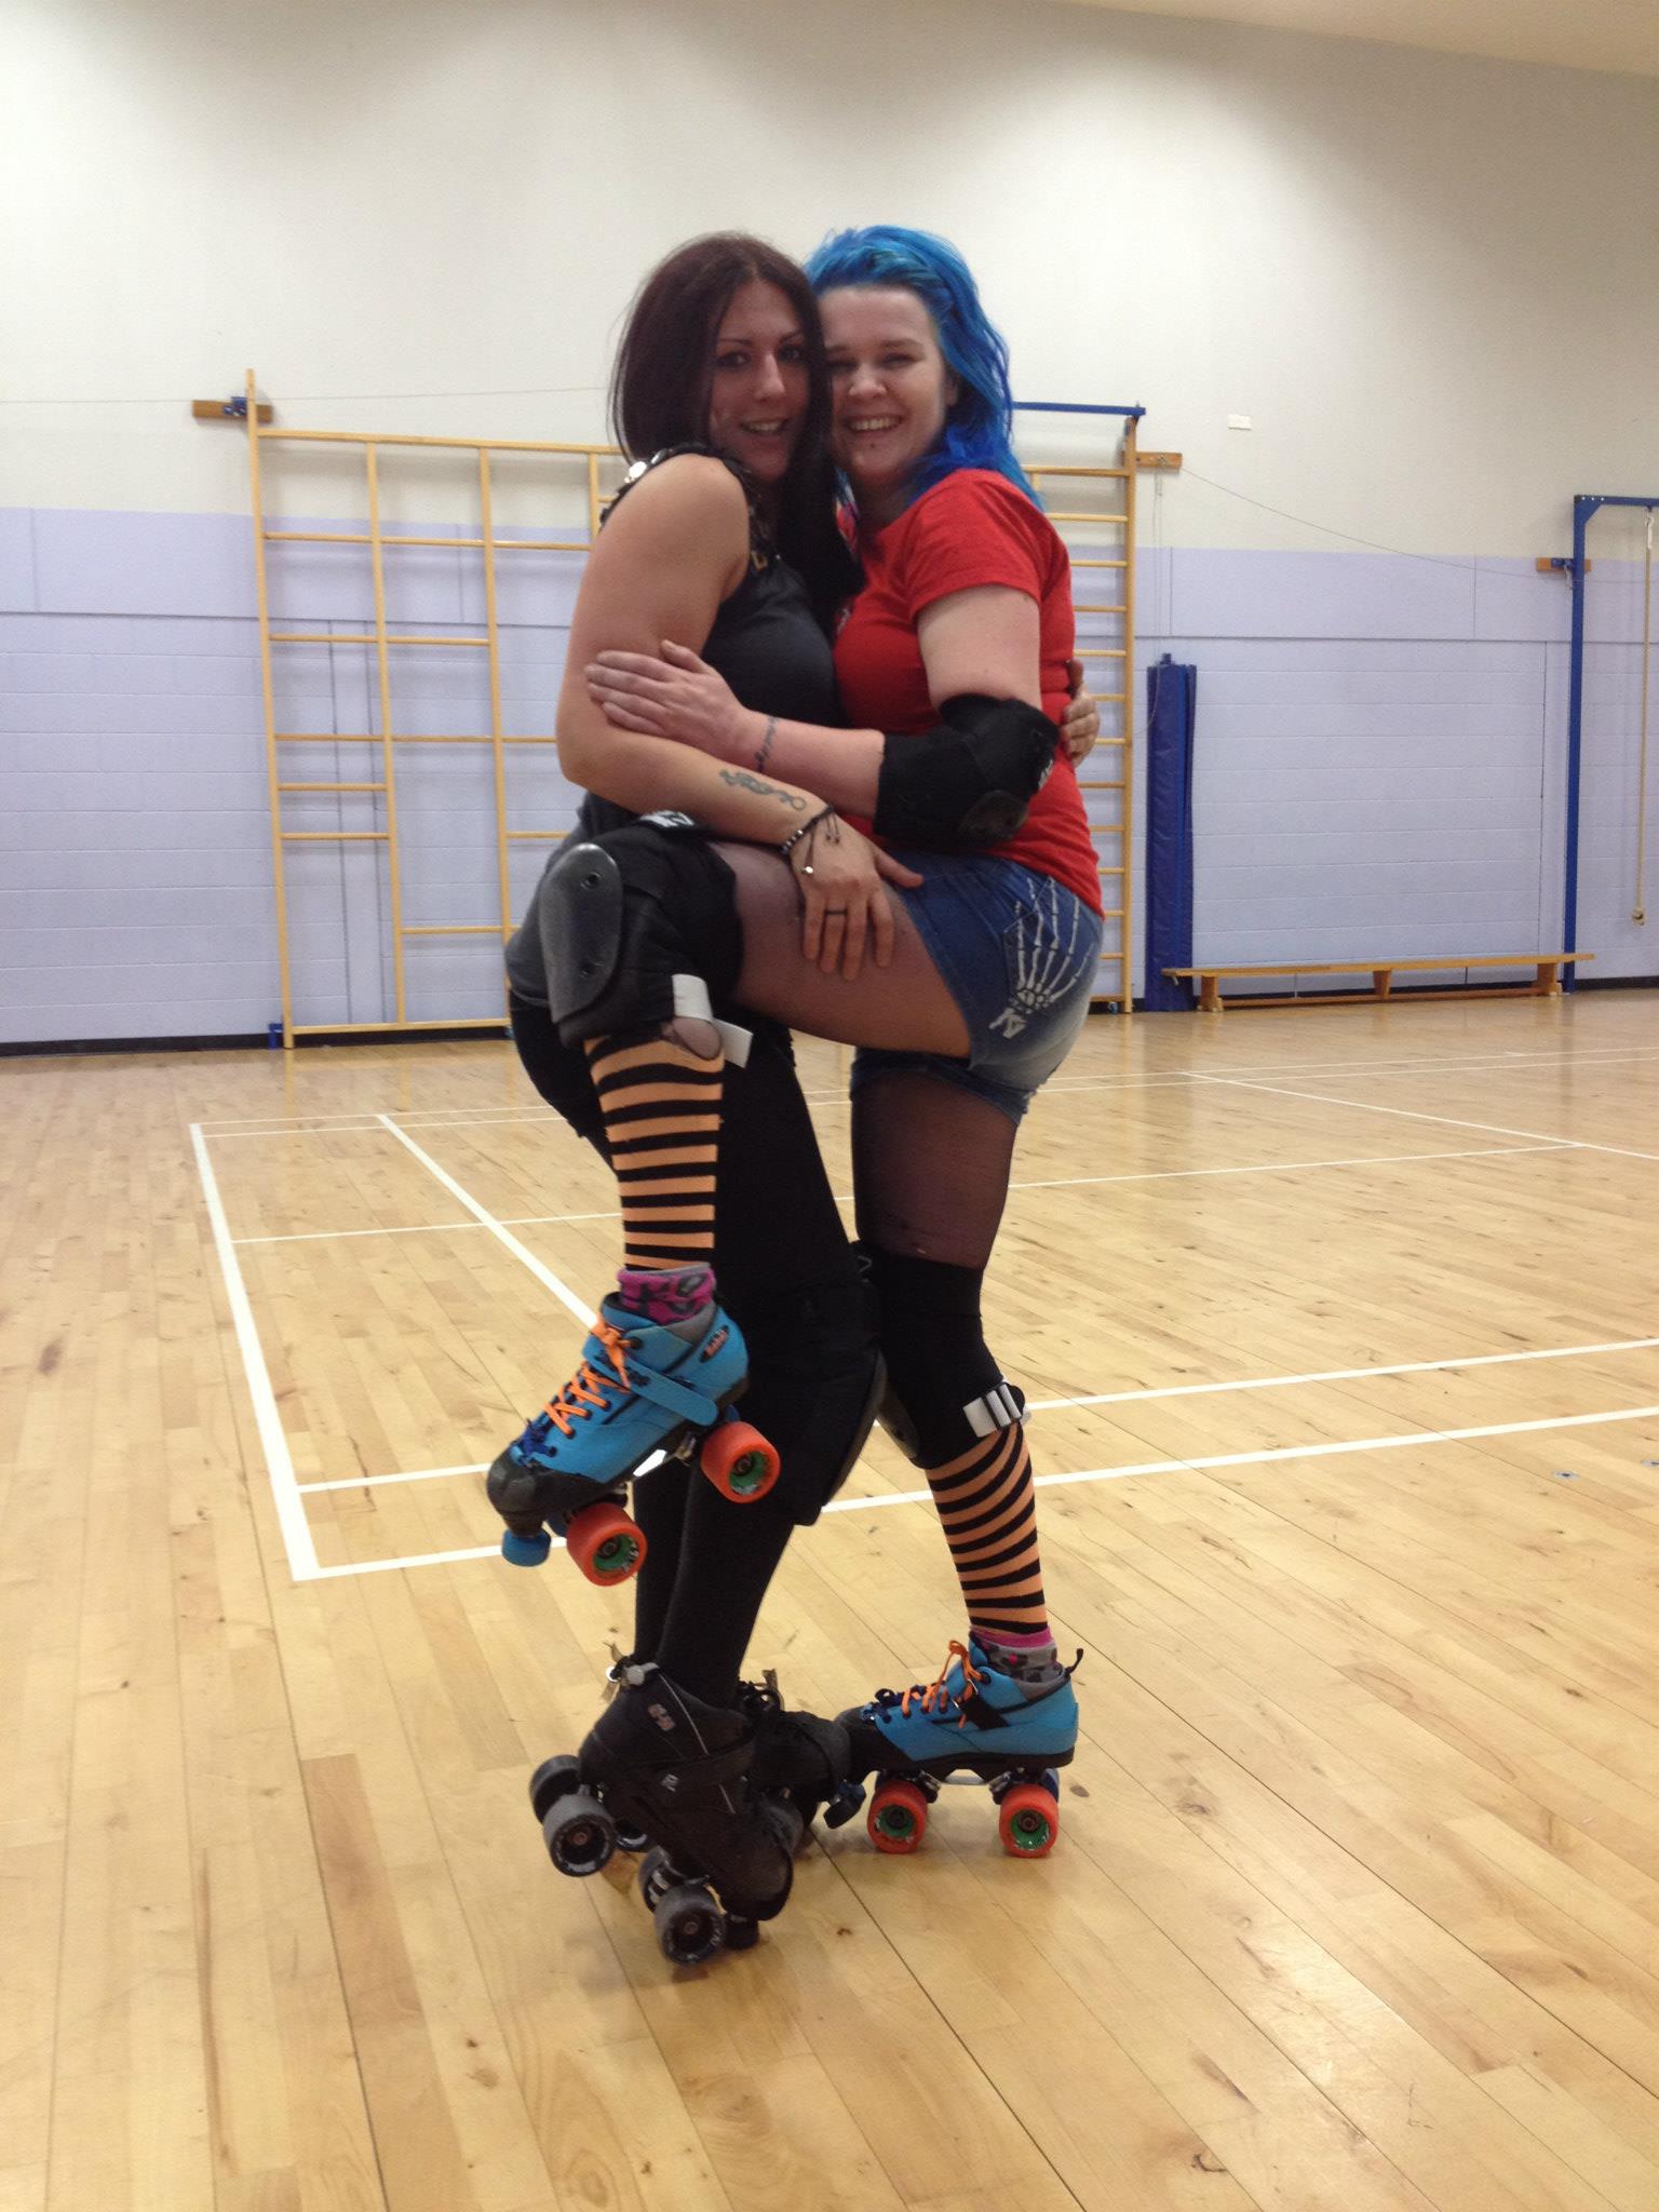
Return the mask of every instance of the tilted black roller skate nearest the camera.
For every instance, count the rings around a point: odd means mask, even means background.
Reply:
[[[560,1874],[599,1874],[622,1832],[650,1836],[639,1889],[664,1958],[741,1951],[783,1911],[801,1814],[754,1787],[754,1723],[655,1663],[628,1666],[575,1759],[549,1759],[531,1805]]]

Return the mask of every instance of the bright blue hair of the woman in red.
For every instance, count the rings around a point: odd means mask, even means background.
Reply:
[[[898,285],[914,292],[933,316],[945,365],[960,389],[945,418],[945,436],[916,469],[911,498],[956,469],[993,469],[1035,500],[1026,471],[1013,458],[1009,347],[980,305],[980,288],[949,239],[898,223],[869,223],[863,230],[832,232],[805,268],[814,292]]]

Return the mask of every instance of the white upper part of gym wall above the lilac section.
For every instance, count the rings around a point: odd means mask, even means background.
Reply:
[[[184,403],[248,363],[290,422],[597,436],[664,248],[865,219],[962,243],[1024,396],[1150,407],[1166,542],[1528,555],[1659,480],[1652,80],[1035,0],[11,0],[0,208],[0,504],[243,509]]]

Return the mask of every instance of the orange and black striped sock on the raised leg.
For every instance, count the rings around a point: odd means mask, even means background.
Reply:
[[[672,1037],[593,1037],[586,1053],[622,1192],[624,1274],[708,1267],[726,1055]]]

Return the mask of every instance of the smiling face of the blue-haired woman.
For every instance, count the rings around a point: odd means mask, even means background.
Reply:
[[[905,507],[945,434],[958,383],[933,316],[900,285],[847,285],[818,301],[834,392],[836,460],[878,529]]]

